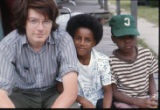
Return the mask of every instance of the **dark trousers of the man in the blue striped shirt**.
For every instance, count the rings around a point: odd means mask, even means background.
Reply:
[[[46,91],[26,91],[14,88],[9,97],[16,108],[49,108],[58,96],[56,88]]]

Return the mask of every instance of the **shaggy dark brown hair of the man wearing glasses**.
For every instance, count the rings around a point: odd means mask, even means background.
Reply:
[[[28,17],[28,9],[34,9],[52,20],[52,30],[58,28],[56,18],[58,16],[58,7],[54,0],[16,0],[13,7],[14,28],[17,28],[19,34],[25,34],[25,25]]]

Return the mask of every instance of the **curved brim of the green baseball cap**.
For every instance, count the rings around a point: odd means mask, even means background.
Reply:
[[[135,28],[114,29],[114,31],[112,31],[112,33],[116,37],[126,36],[126,35],[133,35],[133,36],[140,35],[139,32],[138,32],[138,30],[135,29]]]

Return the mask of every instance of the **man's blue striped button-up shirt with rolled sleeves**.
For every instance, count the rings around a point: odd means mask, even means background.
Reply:
[[[12,31],[0,42],[0,89],[46,90],[56,77],[77,71],[77,54],[70,35],[52,32],[40,51],[35,52],[25,35]]]

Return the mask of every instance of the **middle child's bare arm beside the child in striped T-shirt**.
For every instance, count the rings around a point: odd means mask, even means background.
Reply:
[[[104,86],[103,108],[111,108],[112,104],[112,87],[111,85]]]

